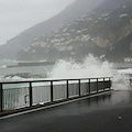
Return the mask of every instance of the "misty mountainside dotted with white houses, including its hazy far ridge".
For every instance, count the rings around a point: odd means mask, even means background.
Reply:
[[[48,25],[44,23],[51,22],[54,24],[46,31]],[[81,61],[89,53],[106,55],[112,62],[132,58],[131,0],[91,0],[89,4],[87,0],[77,0],[44,23],[46,28],[41,23],[9,41],[6,48],[2,47],[4,55],[16,56],[19,61]],[[10,50],[10,45],[15,50]]]

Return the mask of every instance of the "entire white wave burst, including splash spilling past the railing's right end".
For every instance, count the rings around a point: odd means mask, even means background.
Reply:
[[[125,72],[122,74],[114,68],[113,63],[103,61],[102,57],[95,57],[89,54],[82,63],[76,63],[74,59],[56,62],[53,70],[48,73],[52,79],[72,79],[72,78],[98,78],[112,77],[112,88],[116,90],[125,90],[130,87],[129,76]]]

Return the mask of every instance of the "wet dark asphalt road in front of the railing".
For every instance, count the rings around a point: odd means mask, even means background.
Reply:
[[[3,119],[0,132],[132,132],[132,91]]]

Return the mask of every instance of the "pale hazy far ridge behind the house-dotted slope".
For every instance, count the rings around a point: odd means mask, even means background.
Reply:
[[[102,1],[103,0],[76,0],[57,15],[31,29],[28,29],[18,36],[9,40],[7,44],[0,46],[0,58],[16,59],[16,53],[20,48],[31,45],[36,37],[45,35],[56,28],[73,22],[84,13],[90,12]]]

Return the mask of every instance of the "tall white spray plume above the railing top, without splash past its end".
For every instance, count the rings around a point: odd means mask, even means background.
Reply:
[[[102,58],[88,55],[82,63],[73,59],[58,61],[53,70],[48,74],[50,78],[97,78],[111,77],[113,64]]]

